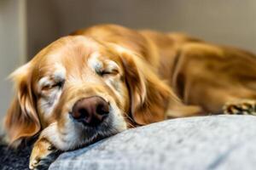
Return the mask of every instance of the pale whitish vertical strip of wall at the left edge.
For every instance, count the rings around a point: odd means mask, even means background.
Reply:
[[[26,2],[0,0],[0,120],[12,97],[9,73],[26,60]]]

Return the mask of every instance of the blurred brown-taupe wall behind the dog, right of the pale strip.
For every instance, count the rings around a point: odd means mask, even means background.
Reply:
[[[256,53],[255,0],[28,0],[28,12],[30,56],[56,37],[99,23],[184,31]]]

